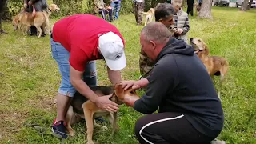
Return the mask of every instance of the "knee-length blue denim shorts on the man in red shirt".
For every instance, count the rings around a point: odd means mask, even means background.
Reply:
[[[62,82],[58,89],[58,93],[73,97],[76,90],[70,82],[70,52],[67,51],[61,43],[54,42],[52,38],[50,38],[50,46],[52,57],[57,62],[59,72],[62,75]],[[86,70],[83,74],[83,80],[90,87],[97,86],[97,70],[95,61],[87,62]]]

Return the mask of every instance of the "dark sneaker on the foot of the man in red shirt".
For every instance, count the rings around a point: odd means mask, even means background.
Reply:
[[[55,137],[67,138],[66,127],[64,125],[64,121],[54,122],[53,126],[51,126],[51,130]]]

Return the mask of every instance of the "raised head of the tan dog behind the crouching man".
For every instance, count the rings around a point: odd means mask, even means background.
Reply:
[[[196,54],[204,53],[206,55],[209,54],[209,49],[205,42],[202,41],[201,38],[190,38],[190,44],[194,47],[194,51]]]

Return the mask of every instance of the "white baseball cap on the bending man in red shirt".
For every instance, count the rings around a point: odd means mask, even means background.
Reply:
[[[98,47],[110,70],[122,70],[126,67],[124,46],[117,34],[110,31],[99,36]]]

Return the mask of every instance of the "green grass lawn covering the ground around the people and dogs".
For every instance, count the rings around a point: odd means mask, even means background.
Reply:
[[[214,7],[212,13],[213,20],[190,18],[189,37],[202,38],[211,55],[223,56],[230,63],[222,86],[225,126],[218,138],[229,144],[256,144],[256,10],[242,13],[236,8]],[[51,20],[51,24],[56,20]],[[122,78],[138,79],[142,26],[135,25],[133,14],[121,15],[113,23],[126,40],[128,63]],[[50,126],[56,114],[53,102],[61,77],[51,58],[49,37],[23,36],[12,30],[10,22],[3,27],[9,34],[0,35],[0,143],[58,143]],[[101,86],[110,84],[102,61],[98,61],[98,82]],[[120,130],[110,138],[110,126],[108,130],[96,128],[94,142],[138,143],[134,123],[140,116],[121,106]],[[39,124],[43,135],[30,124]],[[84,143],[84,126],[84,122],[76,124],[75,137],[66,143]]]

